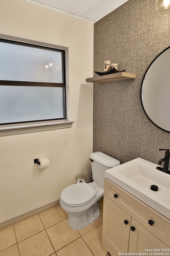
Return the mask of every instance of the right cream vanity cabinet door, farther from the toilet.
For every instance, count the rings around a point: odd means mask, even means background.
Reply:
[[[167,253],[166,251],[162,252],[162,249],[169,249],[169,247],[150,233],[150,231],[135,219],[131,218],[130,226],[134,227],[135,230],[130,230],[128,253],[148,253],[145,249],[160,249],[161,253]],[[159,253],[159,251],[156,253]]]

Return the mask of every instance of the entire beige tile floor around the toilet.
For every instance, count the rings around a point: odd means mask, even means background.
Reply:
[[[59,206],[0,230],[0,256],[105,256],[100,217],[81,230],[72,230]]]

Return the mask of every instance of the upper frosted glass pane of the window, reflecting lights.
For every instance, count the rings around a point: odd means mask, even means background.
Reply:
[[[0,42],[0,80],[63,83],[62,51]]]

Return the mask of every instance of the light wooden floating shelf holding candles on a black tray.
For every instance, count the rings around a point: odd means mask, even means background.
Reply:
[[[105,83],[111,81],[119,81],[126,79],[135,79],[136,74],[130,74],[126,72],[113,73],[109,75],[100,75],[98,77],[86,78],[86,82],[90,83]]]

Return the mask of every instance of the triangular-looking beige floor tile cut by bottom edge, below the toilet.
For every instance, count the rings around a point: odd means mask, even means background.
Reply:
[[[93,256],[83,239],[80,237],[61,250],[57,251],[57,256]]]

